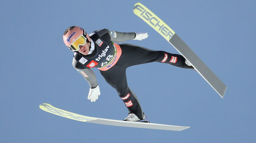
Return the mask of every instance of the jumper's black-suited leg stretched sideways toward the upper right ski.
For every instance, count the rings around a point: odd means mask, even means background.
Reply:
[[[193,68],[185,64],[185,58],[179,54],[166,51],[153,51],[131,44],[120,44],[122,55],[118,60],[119,65],[129,67],[148,62],[163,62],[182,68]]]

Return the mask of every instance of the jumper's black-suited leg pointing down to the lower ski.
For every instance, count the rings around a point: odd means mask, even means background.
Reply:
[[[124,104],[127,106],[129,113],[134,113],[138,118],[143,119],[143,112],[138,97],[127,85],[126,68],[116,64],[109,70],[100,70],[100,73],[107,83],[116,89],[119,97],[121,97]]]

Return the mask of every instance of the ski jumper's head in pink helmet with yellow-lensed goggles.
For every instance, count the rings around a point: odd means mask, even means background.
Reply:
[[[86,55],[90,50],[90,37],[81,27],[68,27],[63,34],[63,41],[74,52]]]

